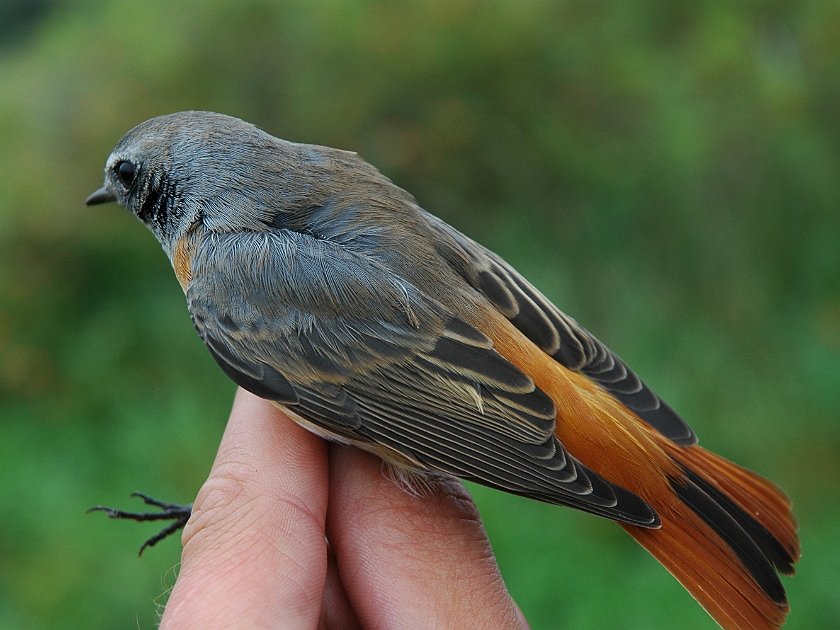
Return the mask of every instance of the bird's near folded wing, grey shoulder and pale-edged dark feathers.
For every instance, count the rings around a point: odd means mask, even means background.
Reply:
[[[553,401],[488,337],[376,261],[285,230],[207,238],[188,303],[237,384],[421,470],[658,524],[566,451]]]

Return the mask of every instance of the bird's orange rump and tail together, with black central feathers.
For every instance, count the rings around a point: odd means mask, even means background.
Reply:
[[[800,554],[784,493],[710,451],[672,442],[508,322],[490,330],[497,349],[554,400],[557,437],[569,452],[647,501],[662,523],[622,527],[721,627],[779,628],[789,607],[776,571],[793,573]]]

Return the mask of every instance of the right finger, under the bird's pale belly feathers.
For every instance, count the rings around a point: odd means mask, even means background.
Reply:
[[[327,535],[364,628],[522,628],[475,504],[452,477],[411,493],[330,445]]]

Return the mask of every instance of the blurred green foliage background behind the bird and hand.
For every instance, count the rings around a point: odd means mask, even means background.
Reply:
[[[358,151],[781,484],[790,628],[840,627],[840,4],[0,0],[0,628],[153,628],[234,386],[164,254],[86,208],[181,109]],[[618,527],[474,488],[541,628],[713,628]]]

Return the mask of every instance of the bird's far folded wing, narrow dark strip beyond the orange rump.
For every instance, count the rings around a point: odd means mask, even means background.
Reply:
[[[591,378],[677,444],[697,443],[685,420],[594,335],[554,306],[500,256],[437,217],[427,216],[449,237],[437,241],[438,253],[528,339],[564,367]]]

